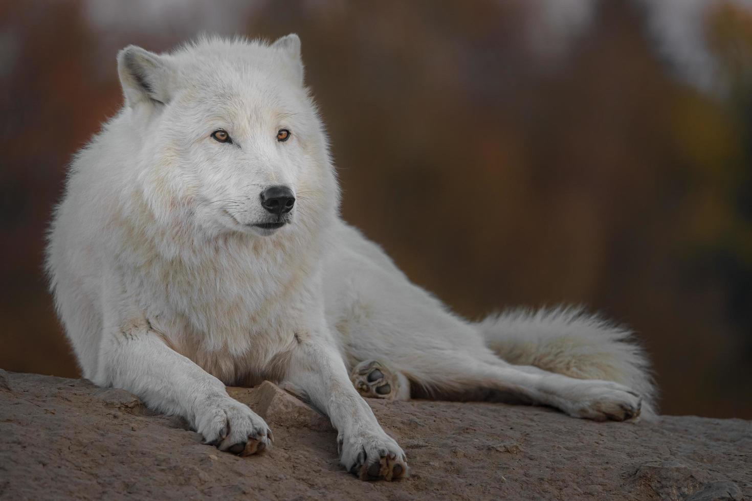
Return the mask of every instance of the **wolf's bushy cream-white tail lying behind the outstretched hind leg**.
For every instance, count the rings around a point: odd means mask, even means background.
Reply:
[[[578,307],[514,309],[478,323],[486,345],[510,364],[579,379],[604,379],[643,397],[641,415],[656,415],[650,362],[632,331]]]

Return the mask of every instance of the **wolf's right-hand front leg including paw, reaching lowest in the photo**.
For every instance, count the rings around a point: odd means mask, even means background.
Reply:
[[[376,421],[353,388],[333,343],[296,336],[286,381],[326,412],[338,430],[340,462],[362,480],[387,481],[408,475],[405,452]]]

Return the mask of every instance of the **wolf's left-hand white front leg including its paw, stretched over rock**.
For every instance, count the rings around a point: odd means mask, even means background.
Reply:
[[[219,379],[167,346],[147,318],[108,330],[93,379],[97,385],[123,388],[151,409],[180,415],[220,451],[249,455],[269,444],[265,421],[229,397]]]

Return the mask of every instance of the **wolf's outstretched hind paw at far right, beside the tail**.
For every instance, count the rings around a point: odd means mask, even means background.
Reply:
[[[640,415],[641,397],[618,383],[586,380],[574,393],[576,396],[563,410],[575,418],[627,421]]]

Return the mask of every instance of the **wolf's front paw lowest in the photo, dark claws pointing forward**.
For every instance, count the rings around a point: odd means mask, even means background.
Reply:
[[[393,481],[408,476],[405,452],[383,431],[362,432],[337,439],[340,462],[361,480]]]

